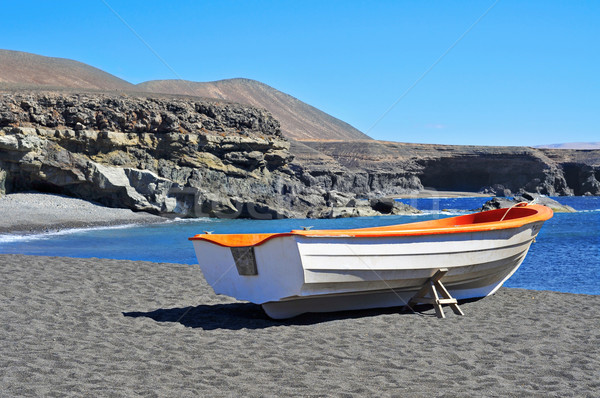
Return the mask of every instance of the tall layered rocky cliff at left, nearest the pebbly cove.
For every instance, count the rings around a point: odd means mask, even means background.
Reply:
[[[0,94],[0,193],[188,217],[326,217],[356,205],[306,184],[289,147],[268,112],[239,104]]]

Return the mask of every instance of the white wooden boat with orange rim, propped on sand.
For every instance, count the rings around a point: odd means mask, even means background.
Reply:
[[[405,305],[437,270],[456,299],[493,294],[523,262],[552,210],[519,204],[439,220],[346,230],[200,234],[215,293],[272,318]]]

